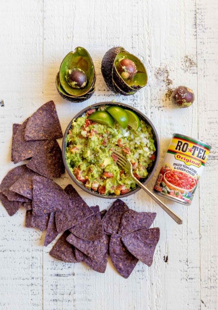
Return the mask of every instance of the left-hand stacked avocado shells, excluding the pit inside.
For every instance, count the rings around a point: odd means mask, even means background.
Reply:
[[[78,68],[85,72],[87,85],[83,88],[73,88],[66,81],[66,71]],[[62,98],[71,102],[82,102],[89,99],[95,91],[96,72],[92,58],[83,47],[76,47],[74,52],[69,52],[60,65],[56,76],[56,87]]]

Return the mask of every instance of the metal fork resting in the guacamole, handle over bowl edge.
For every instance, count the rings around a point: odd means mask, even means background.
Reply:
[[[117,161],[116,163],[120,165],[122,168],[126,168],[131,175],[131,177],[135,180],[135,182],[142,188],[144,191],[149,194],[149,196],[156,201],[159,206],[161,206],[162,209],[172,218],[177,224],[182,224],[182,219],[178,217],[177,214],[175,214],[172,210],[166,206],[160,199],[158,199],[149,189],[147,189],[134,175],[132,172],[132,164],[130,163],[129,160],[126,159],[124,155],[117,151],[113,151],[113,153],[117,156]]]

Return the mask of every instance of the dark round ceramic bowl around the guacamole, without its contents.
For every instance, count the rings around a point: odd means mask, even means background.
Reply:
[[[119,195],[119,196],[115,196],[115,195],[101,195],[101,194],[98,194],[90,189],[87,189],[81,182],[79,182],[75,176],[70,172],[69,168],[68,168],[68,165],[67,165],[67,162],[66,162],[66,156],[65,156],[65,149],[66,149],[66,136],[68,134],[68,131],[72,125],[72,121],[77,119],[78,117],[82,116],[84,113],[86,113],[88,110],[92,109],[92,108],[98,108],[99,106],[121,106],[123,108],[127,108],[133,112],[135,112],[140,119],[142,119],[143,121],[145,121],[147,124],[149,124],[153,130],[153,134],[154,134],[154,144],[155,144],[155,148],[156,148],[156,152],[155,152],[155,155],[156,155],[156,158],[154,160],[154,164],[153,166],[150,168],[149,170],[149,175],[148,177],[145,179],[145,181],[143,182],[143,184],[147,184],[148,181],[150,180],[150,178],[152,177],[152,175],[154,174],[154,171],[156,170],[157,168],[157,165],[158,165],[158,160],[159,160],[159,154],[160,154],[160,145],[159,145],[159,138],[158,138],[158,134],[157,134],[157,131],[155,130],[154,128],[154,125],[152,124],[152,122],[147,118],[147,116],[145,116],[143,113],[141,113],[139,110],[133,108],[132,106],[129,106],[125,103],[120,103],[120,102],[100,102],[100,103],[96,103],[96,104],[93,104],[92,106],[88,106],[86,107],[85,109],[83,109],[82,111],[80,111],[79,113],[77,113],[77,115],[75,115],[73,117],[73,119],[70,121],[69,125],[67,126],[67,129],[65,130],[65,133],[64,133],[64,137],[63,137],[63,142],[62,142],[62,157],[63,157],[63,161],[64,161],[64,166],[69,174],[69,176],[71,177],[71,179],[73,180],[73,182],[75,182],[81,189],[85,190],[87,193],[89,194],[92,194],[94,196],[97,196],[97,197],[101,197],[101,198],[108,198],[108,199],[117,199],[117,198],[123,198],[123,197],[126,197],[126,196],[129,196],[129,195],[132,195],[134,193],[136,193],[140,187],[139,186],[136,186],[135,189],[131,190],[129,193],[127,194],[124,194],[124,195]]]

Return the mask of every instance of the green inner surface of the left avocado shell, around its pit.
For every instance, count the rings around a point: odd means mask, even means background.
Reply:
[[[81,69],[84,71],[88,80],[85,87],[73,88],[68,84],[66,81],[66,74],[71,69]],[[75,52],[69,52],[69,54],[64,57],[60,66],[59,79],[61,88],[67,93],[67,95],[74,97],[83,96],[89,91],[93,84],[94,66],[90,55],[84,48],[77,47]]]

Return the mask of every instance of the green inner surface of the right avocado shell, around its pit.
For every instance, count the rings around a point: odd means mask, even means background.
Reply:
[[[132,60],[135,63],[135,66],[137,68],[137,73],[135,74],[134,78],[131,80],[125,80],[125,83],[130,87],[132,87],[132,86],[140,86],[140,87],[145,86],[147,84],[147,81],[148,81],[147,72],[146,72],[145,67],[142,64],[142,62],[137,57],[135,57],[134,55],[132,55],[128,52],[118,53],[115,60],[114,60],[114,65],[115,65],[114,70],[116,70],[117,74],[119,74],[119,76],[123,80],[122,76],[120,75],[120,73],[117,70],[117,67],[119,66],[119,61],[121,61],[124,58],[128,58],[128,59]]]

